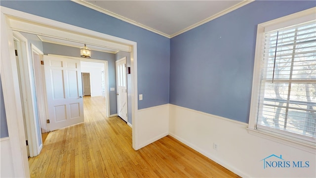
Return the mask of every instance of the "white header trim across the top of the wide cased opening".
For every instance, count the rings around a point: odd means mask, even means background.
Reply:
[[[127,52],[130,52],[132,45],[136,44],[136,42],[133,41],[10,9],[8,7],[0,6],[0,8],[10,19],[10,27],[15,31],[32,33],[35,35],[43,35],[43,32],[45,32],[44,34],[46,36],[52,38],[79,43],[82,43],[80,41],[86,41],[90,42],[86,43],[87,45],[104,46]],[[82,38],[83,35],[85,35],[84,38]]]

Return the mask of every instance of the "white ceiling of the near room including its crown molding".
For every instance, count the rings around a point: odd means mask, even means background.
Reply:
[[[252,0],[74,0],[172,38]],[[213,18],[212,18],[213,17]]]

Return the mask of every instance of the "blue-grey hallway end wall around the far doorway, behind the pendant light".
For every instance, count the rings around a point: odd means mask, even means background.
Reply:
[[[78,47],[71,47],[65,45],[56,45],[51,43],[43,43],[43,53],[47,54],[57,54],[65,56],[80,57],[80,52]],[[116,91],[110,91],[111,87],[116,88],[116,74],[115,74],[115,54],[101,52],[101,51],[91,51],[92,59],[107,60],[109,65],[109,100],[110,100],[110,115],[117,113],[117,94]]]

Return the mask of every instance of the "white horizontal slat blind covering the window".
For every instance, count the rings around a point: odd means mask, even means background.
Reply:
[[[265,32],[256,128],[316,138],[316,21]]]

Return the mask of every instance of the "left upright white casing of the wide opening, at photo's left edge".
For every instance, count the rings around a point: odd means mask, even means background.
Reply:
[[[13,45],[13,32],[8,27],[9,20],[4,13],[0,13],[1,32],[1,83],[3,87],[3,99],[7,119],[8,134],[10,136],[10,148],[14,177],[29,177],[29,163],[25,145],[24,124],[21,106],[21,96],[17,76],[17,66]],[[7,52],[4,52],[7,51]]]

